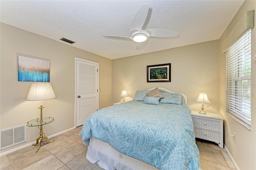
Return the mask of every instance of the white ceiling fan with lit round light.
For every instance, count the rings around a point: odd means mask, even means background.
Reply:
[[[148,43],[148,37],[176,37],[178,36],[178,32],[174,32],[171,30],[163,30],[163,29],[146,29],[142,30],[142,26],[146,21],[146,17],[148,15],[148,4],[143,4],[136,15],[132,20],[132,25],[130,28],[131,36],[110,36],[103,35],[106,38],[118,38],[118,39],[129,39],[134,42],[139,42],[136,50],[142,49]],[[141,43],[143,42],[143,43]]]

